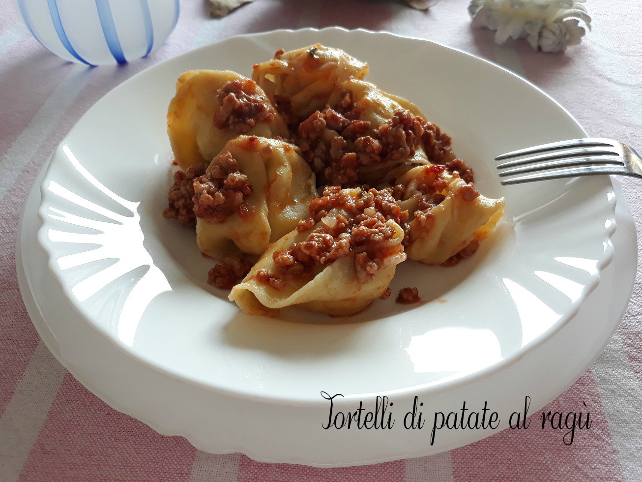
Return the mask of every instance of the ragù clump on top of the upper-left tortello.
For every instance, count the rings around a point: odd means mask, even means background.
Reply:
[[[245,134],[258,122],[269,122],[276,116],[254,80],[228,80],[219,89],[217,98],[221,108],[214,114],[213,122],[218,129]]]

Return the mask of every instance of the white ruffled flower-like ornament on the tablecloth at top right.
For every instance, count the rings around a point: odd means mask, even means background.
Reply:
[[[586,0],[472,0],[473,26],[495,30],[495,42],[526,39],[534,49],[559,52],[577,45],[591,30]]]

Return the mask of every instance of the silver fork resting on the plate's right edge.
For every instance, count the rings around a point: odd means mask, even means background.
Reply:
[[[551,142],[495,157],[496,161],[505,159],[512,160],[497,166],[500,170],[499,177],[535,174],[503,179],[503,186],[595,174],[642,178],[642,157],[634,148],[611,139],[587,138]]]

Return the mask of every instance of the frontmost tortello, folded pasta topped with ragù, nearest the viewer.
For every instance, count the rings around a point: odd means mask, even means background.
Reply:
[[[325,198],[313,201],[311,215],[315,203],[332,197],[327,194],[324,192]],[[334,194],[349,195],[349,201],[355,201],[356,206],[364,199],[369,204],[356,210],[342,206],[324,209],[321,219],[310,222],[309,228],[288,233],[271,245],[245,279],[232,288],[230,300],[248,314],[274,316],[279,308],[296,305],[333,316],[348,316],[360,312],[386,292],[395,266],[406,259],[403,229],[396,221],[401,211],[398,206],[390,208],[394,200],[389,195],[386,196],[390,202],[385,199],[387,207],[371,202],[379,194],[376,190],[367,193],[359,189],[342,190]],[[313,216],[314,219],[318,216]],[[363,229],[366,224],[372,226],[370,231]],[[322,242],[326,244],[322,246]]]

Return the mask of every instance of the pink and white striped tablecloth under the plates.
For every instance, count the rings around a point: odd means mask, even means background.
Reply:
[[[37,173],[71,126],[103,94],[161,60],[239,33],[324,27],[385,30],[488,58],[550,94],[596,136],[642,148],[642,3],[588,1],[591,31],[566,54],[525,42],[496,46],[472,30],[462,0],[429,12],[365,0],[259,0],[210,19],[185,0],[159,51],[126,66],[64,62],[42,48],[12,1],[0,0],[0,480],[221,481],[642,481],[642,286],[602,356],[546,410],[591,400],[593,425],[567,447],[556,431],[505,430],[425,458],[314,469],[211,455],[108,407],[49,353],[31,325],[15,272],[19,213]],[[471,82],[474,89],[474,82]],[[623,179],[638,229],[640,184]],[[638,248],[639,249],[639,248]]]

